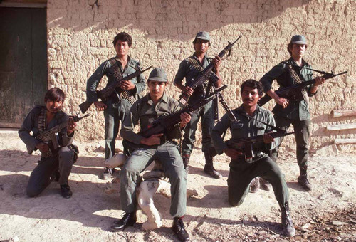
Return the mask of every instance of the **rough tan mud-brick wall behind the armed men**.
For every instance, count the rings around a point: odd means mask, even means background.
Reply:
[[[224,97],[230,107],[241,104],[239,85],[259,80],[273,65],[289,58],[286,46],[294,34],[308,38],[305,60],[313,68],[347,75],[333,78],[310,99],[312,149],[337,138],[355,138],[356,130],[328,132],[330,124],[356,122],[355,117],[332,118],[332,110],[355,109],[356,1],[353,0],[48,0],[48,87],[63,88],[66,111],[77,112],[85,101],[90,75],[115,56],[112,39],[127,31],[133,38],[130,55],[143,65],[167,70],[173,80],[180,61],[194,49],[198,31],[209,31],[214,56],[228,41],[242,34],[232,54],[221,65]],[[145,73],[146,77],[148,73]],[[105,78],[102,84],[105,84]],[[178,98],[169,85],[168,94]],[[273,102],[266,105],[271,110]],[[102,140],[103,113],[78,125],[78,140]],[[222,113],[222,110],[221,110]],[[201,134],[197,133],[200,142]],[[295,149],[291,137],[283,144]]]

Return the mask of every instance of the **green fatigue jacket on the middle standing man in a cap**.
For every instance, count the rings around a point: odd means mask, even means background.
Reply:
[[[194,58],[198,61],[198,63],[200,63],[199,59],[197,58],[197,56],[190,56],[189,58]],[[209,58],[207,55],[204,56],[203,58],[203,62],[200,63],[201,67],[203,68],[203,70],[211,63],[211,58]],[[185,78],[185,85],[190,85],[192,84],[192,81],[194,80],[194,78],[197,78],[197,76],[199,75],[199,73],[201,73],[199,70],[197,70],[196,68],[193,67],[192,63],[189,62],[188,58],[184,59],[180,64],[179,64],[179,68],[177,71],[177,74],[174,78],[174,84],[176,83],[181,83],[182,84],[182,80]],[[201,96],[203,93],[201,92],[200,88],[196,88],[194,90],[194,93],[192,96],[194,95],[199,95]]]

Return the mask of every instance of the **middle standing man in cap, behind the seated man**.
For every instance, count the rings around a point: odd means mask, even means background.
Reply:
[[[194,81],[194,78],[201,73],[204,68],[206,68],[211,62],[214,63],[214,73],[219,77],[219,80],[216,83],[216,88],[219,88],[221,85],[221,79],[219,75],[219,68],[221,59],[219,56],[215,58],[209,58],[206,52],[210,47],[210,36],[207,32],[199,32],[193,41],[194,54],[184,59],[179,65],[179,69],[174,78],[174,85],[177,86],[182,93],[190,95],[189,104],[197,102],[200,98],[204,98],[204,93],[206,90],[206,85],[201,85],[200,87],[195,88],[194,90],[189,87],[189,84]],[[182,80],[185,78],[185,85],[182,84]],[[195,112],[192,115],[187,127],[184,129],[184,140],[182,143],[182,157],[184,162],[184,168],[188,170],[188,163],[190,154],[195,142],[195,132],[197,131],[198,122],[201,118],[201,135],[202,135],[202,151],[205,155],[205,166],[204,172],[209,174],[211,177],[216,179],[221,178],[221,174],[216,172],[213,166],[213,158],[209,156],[209,149],[213,147],[211,142],[210,133],[214,127],[214,108],[213,102],[209,102],[204,107],[201,107],[199,112]]]

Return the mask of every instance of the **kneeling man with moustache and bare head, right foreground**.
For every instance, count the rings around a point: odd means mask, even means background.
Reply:
[[[268,157],[268,150],[276,147],[278,138],[273,139],[271,130],[276,130],[271,112],[257,105],[263,95],[261,83],[256,80],[246,80],[241,85],[242,105],[232,110],[236,121],[231,122],[225,114],[211,132],[211,139],[217,154],[223,152],[231,158],[228,184],[228,199],[231,206],[239,206],[249,191],[251,181],[255,177],[263,177],[270,181],[273,191],[281,207],[281,221],[283,236],[295,235],[292,219],[290,219],[288,205],[288,187],[284,175],[276,162]],[[244,149],[234,149],[223,137],[227,129],[231,131],[231,140],[244,140],[248,137],[263,135],[263,142],[251,142],[244,145]],[[285,134],[287,135],[287,134]],[[283,136],[276,135],[274,137]],[[231,142],[230,142],[231,143]],[[254,155],[251,155],[254,154]]]

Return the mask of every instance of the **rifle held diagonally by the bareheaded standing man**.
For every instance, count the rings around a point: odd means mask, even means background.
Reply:
[[[131,73],[130,75],[125,76],[125,78],[121,78],[120,80],[117,80],[115,83],[108,85],[106,88],[103,88],[102,90],[96,90],[96,95],[98,96],[98,98],[105,101],[108,98],[110,98],[112,93],[114,93],[115,88],[120,87],[120,84],[124,80],[131,80],[132,78],[136,78],[141,73],[144,73],[146,70],[149,70],[152,67],[153,66],[151,65],[149,68],[146,68],[145,70],[136,69],[136,71],[134,73]],[[80,111],[82,111],[82,113],[85,113],[88,110],[88,108],[92,105],[92,103],[93,102],[88,102],[88,101],[80,103],[80,105],[79,105]]]

